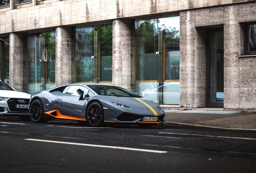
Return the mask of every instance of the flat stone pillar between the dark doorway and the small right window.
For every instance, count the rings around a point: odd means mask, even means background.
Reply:
[[[239,5],[224,7],[224,108],[239,108]],[[248,71],[248,69],[246,69]]]

